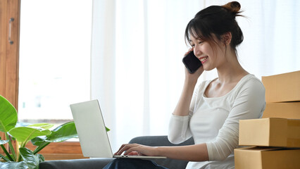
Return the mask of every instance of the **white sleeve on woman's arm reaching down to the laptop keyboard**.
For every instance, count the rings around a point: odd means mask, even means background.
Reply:
[[[246,82],[213,142],[206,142],[209,161],[223,161],[239,144],[239,120],[261,118],[265,109],[265,88],[258,79]]]

